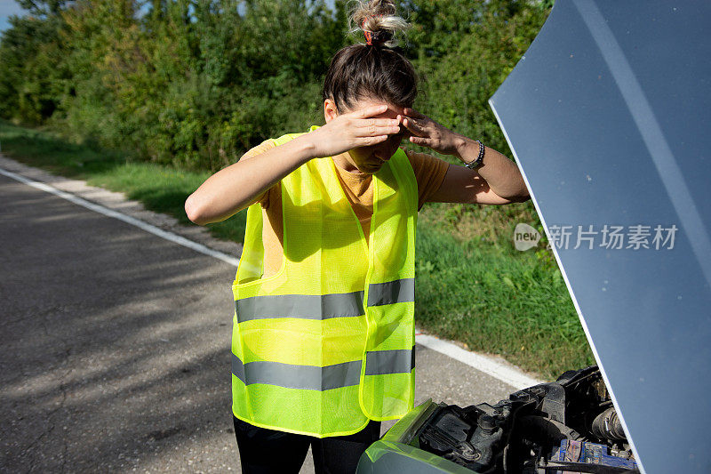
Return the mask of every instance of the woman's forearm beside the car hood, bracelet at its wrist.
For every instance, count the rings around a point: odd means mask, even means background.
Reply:
[[[479,156],[479,143],[459,136],[455,156],[464,163],[471,163]],[[499,197],[512,201],[523,201],[529,198],[528,189],[518,166],[495,149],[485,147],[482,165],[476,168],[476,171]]]

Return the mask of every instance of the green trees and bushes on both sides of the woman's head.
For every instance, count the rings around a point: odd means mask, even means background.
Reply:
[[[77,143],[214,171],[320,123],[320,87],[347,42],[347,3],[324,0],[19,0],[0,40],[0,116]],[[404,0],[418,107],[507,150],[487,100],[549,7]]]

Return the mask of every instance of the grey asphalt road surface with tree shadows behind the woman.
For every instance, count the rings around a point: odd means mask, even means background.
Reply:
[[[2,175],[0,202],[0,470],[239,471],[236,269]],[[416,403],[513,391],[431,349],[417,361]]]

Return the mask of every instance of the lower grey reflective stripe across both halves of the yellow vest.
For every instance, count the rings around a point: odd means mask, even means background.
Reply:
[[[376,350],[366,354],[365,374],[409,374],[415,366],[415,349]],[[332,390],[360,382],[361,361],[333,366],[294,366],[260,360],[243,364],[232,354],[232,374],[245,385],[264,383],[287,389]]]

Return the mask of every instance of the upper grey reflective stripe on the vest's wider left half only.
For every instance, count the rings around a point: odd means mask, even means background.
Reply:
[[[237,321],[273,317],[328,319],[363,316],[363,292],[332,294],[273,294],[235,301]]]

